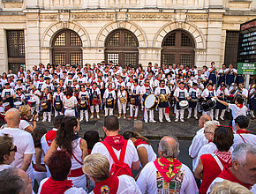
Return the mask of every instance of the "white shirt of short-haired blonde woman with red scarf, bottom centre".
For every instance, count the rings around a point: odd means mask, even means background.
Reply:
[[[129,175],[119,175],[117,194],[140,194],[140,190],[135,180]],[[94,194],[94,190],[90,192]]]

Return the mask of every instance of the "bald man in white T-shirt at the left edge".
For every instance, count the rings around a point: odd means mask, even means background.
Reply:
[[[5,113],[7,126],[0,131],[0,135],[9,134],[13,138],[13,145],[17,146],[17,153],[11,167],[26,171],[34,183],[34,173],[31,165],[34,152],[34,141],[30,133],[19,130],[20,114],[17,108],[11,108]]]

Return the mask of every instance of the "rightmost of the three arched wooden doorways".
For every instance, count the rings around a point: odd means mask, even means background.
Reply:
[[[174,30],[162,41],[161,63],[194,64],[195,43],[192,35],[184,30]]]

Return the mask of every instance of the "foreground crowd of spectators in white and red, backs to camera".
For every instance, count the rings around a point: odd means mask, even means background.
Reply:
[[[200,116],[192,169],[178,160],[177,138],[163,137],[156,154],[136,131],[120,134],[117,116],[104,118],[103,139],[97,131],[80,138],[75,116],[56,116],[53,129],[31,133],[19,127],[20,118],[10,108],[0,130],[1,194],[256,193],[256,136],[247,116],[237,116],[235,132]]]

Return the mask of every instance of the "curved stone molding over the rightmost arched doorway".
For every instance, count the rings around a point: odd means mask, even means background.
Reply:
[[[155,34],[153,47],[161,48],[163,38],[169,34],[170,31],[182,29],[190,33],[195,42],[195,48],[206,49],[206,41],[204,35],[197,26],[194,26],[192,23],[188,22],[171,22],[162,28]]]

